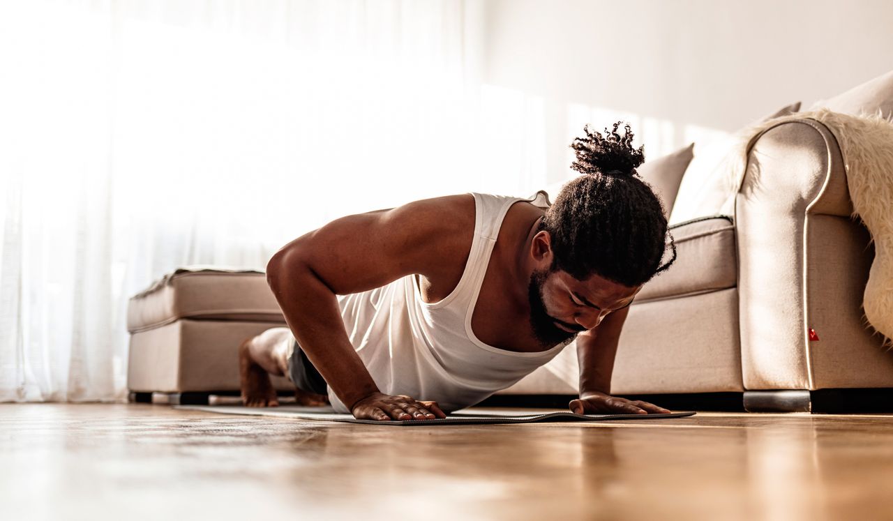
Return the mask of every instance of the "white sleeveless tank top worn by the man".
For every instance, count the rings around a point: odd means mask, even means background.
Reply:
[[[506,351],[481,342],[472,332],[474,304],[505,213],[518,201],[548,204],[544,192],[529,199],[472,195],[472,250],[459,284],[445,299],[422,301],[414,275],[338,296],[350,342],[382,393],[437,401],[445,410],[470,407],[552,360],[566,345],[539,352]],[[331,386],[329,399],[334,409],[349,412]]]

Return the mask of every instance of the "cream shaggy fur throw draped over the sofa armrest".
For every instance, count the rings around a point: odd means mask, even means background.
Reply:
[[[893,121],[880,115],[855,117],[827,109],[798,112],[756,124],[742,132],[726,172],[739,188],[747,169],[747,150],[761,132],[781,121],[821,121],[837,138],[847,171],[853,217],[862,219],[874,243],[874,261],[865,285],[865,319],[893,346]],[[734,193],[738,193],[736,189]]]

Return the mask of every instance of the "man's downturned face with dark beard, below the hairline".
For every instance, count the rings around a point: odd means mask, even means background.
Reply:
[[[534,270],[528,301],[530,326],[538,340],[557,345],[597,327],[614,310],[632,302],[641,286],[628,287],[597,275],[578,280],[561,270]]]

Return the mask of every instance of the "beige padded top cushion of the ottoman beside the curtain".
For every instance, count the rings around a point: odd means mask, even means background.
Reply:
[[[130,298],[130,333],[178,318],[217,318],[285,323],[263,272],[202,266],[180,268]]]

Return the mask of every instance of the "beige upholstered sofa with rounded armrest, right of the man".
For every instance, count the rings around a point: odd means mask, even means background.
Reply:
[[[840,390],[893,387],[893,352],[862,318],[873,252],[849,217],[834,136],[815,120],[783,123],[747,161],[734,216],[672,227],[678,260],[630,309],[612,393],[742,393],[748,410],[826,410],[840,409]],[[504,393],[576,393],[577,371],[568,349]]]

